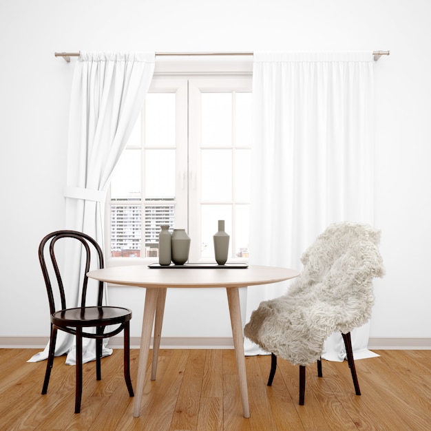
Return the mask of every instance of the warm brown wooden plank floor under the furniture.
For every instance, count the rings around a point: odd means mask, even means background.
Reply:
[[[356,361],[362,395],[350,370],[323,361],[306,370],[305,406],[298,406],[298,367],[280,359],[266,386],[270,357],[247,357],[251,417],[242,406],[233,350],[160,350],[156,381],[147,381],[141,416],[123,379],[123,350],[84,365],[80,414],[74,414],[75,368],[54,361],[47,395],[41,395],[45,361],[27,363],[33,349],[0,349],[1,430],[430,430],[431,350],[381,350]],[[136,384],[138,350],[132,350]],[[151,361],[149,361],[151,362]],[[151,364],[149,364],[151,366]]]

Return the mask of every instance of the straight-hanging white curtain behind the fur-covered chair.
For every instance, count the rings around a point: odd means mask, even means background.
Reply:
[[[328,224],[372,224],[372,61],[371,52],[255,52],[251,264],[302,270],[302,253]],[[246,321],[286,288],[249,287]],[[367,347],[368,326],[359,331],[357,351]],[[342,360],[340,340],[332,335],[322,357]],[[262,354],[244,343],[246,355]]]

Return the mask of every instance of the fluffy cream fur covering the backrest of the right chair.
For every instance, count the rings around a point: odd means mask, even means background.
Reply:
[[[372,279],[384,274],[379,241],[380,231],[368,224],[330,224],[302,255],[304,269],[287,295],[322,304],[341,332],[365,324],[374,304]]]

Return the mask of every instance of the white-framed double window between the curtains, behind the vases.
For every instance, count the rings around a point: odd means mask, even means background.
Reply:
[[[190,262],[211,260],[218,220],[229,260],[248,257],[251,74],[155,74],[114,171],[112,257],[157,257],[160,225],[184,228]]]

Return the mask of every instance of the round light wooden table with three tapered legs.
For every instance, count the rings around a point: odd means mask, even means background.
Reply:
[[[271,284],[289,280],[299,275],[293,269],[275,266],[248,266],[246,268],[149,268],[146,265],[114,266],[90,271],[88,277],[112,284],[146,288],[142,335],[138,361],[138,381],[134,399],[134,417],[140,416],[142,395],[147,369],[149,346],[154,322],[153,363],[151,380],[156,379],[158,350],[162,332],[163,313],[167,288],[220,288],[227,290],[233,346],[238,365],[240,391],[244,417],[250,417],[247,390],[244,335],[242,333],[239,288]],[[154,319],[155,317],[155,319]]]

